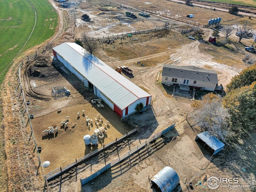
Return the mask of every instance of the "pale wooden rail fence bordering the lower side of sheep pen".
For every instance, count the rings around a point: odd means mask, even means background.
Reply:
[[[103,147],[101,147],[101,148],[99,148],[99,149],[97,149],[97,150],[95,150],[95,151],[93,151],[93,152],[90,152],[89,154],[87,154],[86,156],[83,156],[82,158],[76,160],[75,162],[72,162],[72,163],[70,163],[70,164],[68,164],[68,165],[66,165],[66,166],[64,166],[64,167],[58,167],[58,168],[54,169],[53,171],[51,171],[51,172],[49,172],[49,173],[47,173],[47,174],[44,175],[45,178],[46,178],[46,180],[50,180],[51,178],[54,178],[54,177],[56,177],[56,176],[62,174],[62,172],[65,172],[65,171],[67,171],[67,170],[73,168],[74,166],[77,166],[77,164],[83,162],[84,160],[86,160],[86,159],[88,159],[88,158],[91,158],[91,157],[94,156],[95,154],[98,154],[98,153],[102,152],[102,151],[104,150],[104,148],[107,148],[107,147],[109,147],[109,146],[114,145],[116,142],[119,142],[119,141],[123,140],[123,139],[126,138],[127,136],[129,136],[129,135],[135,133],[136,131],[137,131],[137,128],[134,129],[134,130],[131,130],[130,132],[127,132],[127,133],[126,133],[125,135],[123,135],[122,137],[117,138],[116,140],[114,140],[114,141],[112,141],[112,142],[106,144],[105,146],[103,146]]]

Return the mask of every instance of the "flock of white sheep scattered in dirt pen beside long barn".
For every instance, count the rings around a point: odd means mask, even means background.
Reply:
[[[100,98],[99,99],[93,99],[91,102],[92,102],[92,104],[96,104],[96,102],[98,102],[98,104],[97,104],[98,108],[104,108],[104,105],[101,103],[102,99],[100,99]],[[58,110],[58,112],[60,112],[61,108],[58,107],[57,110]],[[85,116],[84,112],[85,111],[82,109],[82,115],[83,116]],[[106,123],[104,123],[103,122],[103,117],[100,116],[100,114],[98,114],[97,118],[94,118],[94,120],[92,120],[88,116],[85,116],[85,117],[86,117],[86,124],[87,124],[88,128],[90,128],[90,125],[93,124],[93,122],[95,120],[95,125],[97,126],[97,129],[98,129],[99,126],[101,126],[101,127],[104,126],[104,128],[102,127],[103,129],[100,129],[100,133],[106,134],[107,130],[105,130],[105,128],[110,126],[110,123],[109,123],[108,120],[106,120]],[[65,120],[62,120],[62,122],[60,122],[61,127],[62,126],[67,127],[68,126],[68,122],[69,122],[68,118],[69,118],[69,116],[66,116]],[[80,111],[77,113],[77,118],[80,118]],[[97,130],[97,129],[95,129],[95,130]],[[95,130],[94,130],[94,132],[95,132]],[[58,126],[56,126],[56,128],[53,128],[53,126],[50,126],[50,127],[48,127],[48,129],[42,131],[42,136],[47,136],[48,134],[56,134],[57,132],[58,132]],[[100,137],[100,135],[99,135],[99,138],[102,139],[102,137]]]

